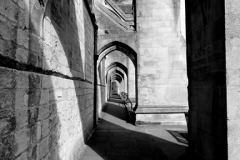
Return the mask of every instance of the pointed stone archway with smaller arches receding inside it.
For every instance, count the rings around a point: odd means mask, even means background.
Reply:
[[[108,61],[106,57],[110,56],[111,54],[123,54],[126,57],[126,60],[125,62],[121,62],[121,60],[117,60],[115,58],[115,60],[111,60],[112,63],[106,66],[106,63]],[[131,74],[129,74],[130,64],[132,64],[133,66],[131,68]],[[131,90],[131,98],[137,103],[137,53],[131,47],[118,41],[111,42],[102,47],[97,53],[96,71],[97,72],[95,73],[95,75],[97,76],[97,95],[95,96],[102,97],[102,95],[105,95],[104,100],[98,99],[96,102],[96,110],[98,112],[96,115],[97,119],[101,117],[100,112],[102,106],[111,96],[111,86],[114,80],[119,81],[119,85],[121,86],[121,92],[129,93],[129,90]],[[131,85],[133,89],[129,89],[129,77],[131,77],[131,80],[134,80],[133,84]],[[105,80],[103,80],[103,78],[105,78]]]

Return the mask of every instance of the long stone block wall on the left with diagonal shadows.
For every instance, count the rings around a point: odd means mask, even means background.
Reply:
[[[87,4],[46,2],[0,1],[0,159],[79,159],[93,128]]]

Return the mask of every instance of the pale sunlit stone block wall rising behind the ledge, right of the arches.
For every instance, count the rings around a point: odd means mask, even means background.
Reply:
[[[181,10],[180,0],[137,0],[136,3],[137,121],[160,122],[167,118],[169,122],[176,121],[176,116],[163,113],[166,110],[183,112],[188,108],[186,42],[180,23],[185,21],[181,19],[184,10]],[[148,115],[144,114],[146,111]],[[179,122],[186,123],[183,114],[180,117]]]

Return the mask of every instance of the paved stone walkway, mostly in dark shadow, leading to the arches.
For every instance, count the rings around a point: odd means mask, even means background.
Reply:
[[[184,133],[127,123],[125,108],[116,102],[107,104],[83,160],[177,160],[185,152]]]

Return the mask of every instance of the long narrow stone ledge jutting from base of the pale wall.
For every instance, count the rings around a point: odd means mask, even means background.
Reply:
[[[166,114],[166,113],[187,113],[188,106],[168,106],[168,105],[144,105],[138,106],[136,114]]]

